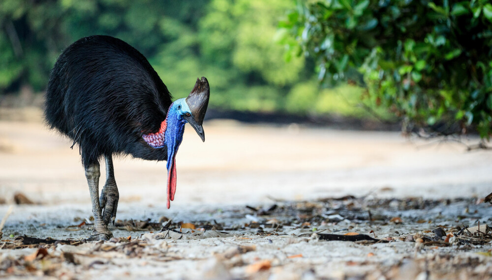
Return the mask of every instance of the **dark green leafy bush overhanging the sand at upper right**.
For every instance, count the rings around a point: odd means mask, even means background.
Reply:
[[[474,126],[490,137],[489,1],[299,1],[280,27],[290,35],[287,53],[314,57],[324,84],[361,84],[406,129]]]

